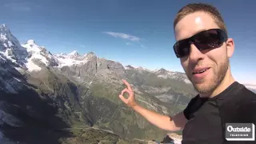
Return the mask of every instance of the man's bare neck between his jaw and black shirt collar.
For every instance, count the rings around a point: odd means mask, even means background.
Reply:
[[[199,94],[200,97],[204,98],[213,98],[218,94],[221,94],[222,91],[226,90],[232,83],[234,83],[234,77],[230,72],[230,68],[226,71],[226,76],[223,78],[222,82],[217,86],[217,88],[210,93],[207,94]]]

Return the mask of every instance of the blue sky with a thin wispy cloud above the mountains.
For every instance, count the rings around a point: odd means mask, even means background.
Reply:
[[[175,58],[173,19],[188,2],[135,0],[0,0],[0,23],[21,43],[34,39],[52,53],[94,51],[124,65],[182,71]],[[230,59],[239,82],[256,83],[254,1],[203,1],[226,21],[235,52]]]

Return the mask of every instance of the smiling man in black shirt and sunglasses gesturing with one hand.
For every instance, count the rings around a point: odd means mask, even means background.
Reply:
[[[228,142],[226,123],[256,124],[256,95],[231,74],[229,58],[234,53],[234,40],[228,38],[218,10],[202,3],[184,6],[174,19],[174,34],[174,52],[198,95],[185,110],[169,117],[139,106],[130,84],[122,80],[127,86],[119,95],[122,102],[163,130],[183,130],[184,144]],[[122,96],[125,92],[129,98]]]

